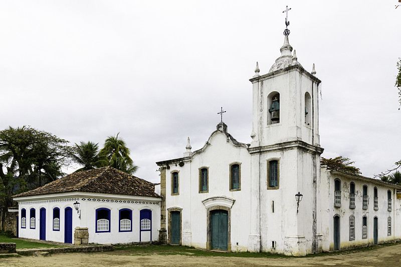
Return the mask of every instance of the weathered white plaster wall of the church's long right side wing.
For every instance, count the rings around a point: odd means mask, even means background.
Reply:
[[[323,178],[324,177],[324,178]],[[341,181],[341,207],[334,206],[334,180]],[[349,186],[355,183],[355,208],[349,207]],[[367,209],[362,209],[362,187],[368,186],[369,203]],[[373,244],[373,218],[378,218],[378,243],[399,240],[400,215],[396,214],[400,200],[395,199],[391,186],[380,185],[369,180],[352,178],[340,174],[332,174],[326,168],[322,168],[322,187],[326,188],[327,198],[322,201],[321,217],[323,220],[322,234],[324,236],[325,251],[333,250],[333,216],[340,215],[340,249],[349,249],[358,246]],[[377,188],[378,210],[374,210],[373,188]],[[387,190],[391,191],[392,210],[387,210]],[[395,205],[394,205],[395,203]],[[349,240],[349,216],[355,216],[355,240]],[[367,238],[362,239],[362,216],[367,217]],[[391,235],[387,235],[387,217],[391,217]]]

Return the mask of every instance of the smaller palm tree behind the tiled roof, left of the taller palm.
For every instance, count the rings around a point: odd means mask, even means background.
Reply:
[[[88,141],[82,142],[80,145],[75,144],[75,153],[72,160],[83,167],[76,171],[91,170],[104,164],[104,158],[99,155],[99,143]]]

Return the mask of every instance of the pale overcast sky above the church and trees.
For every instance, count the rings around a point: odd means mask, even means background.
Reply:
[[[72,144],[120,132],[140,167],[202,147],[220,122],[251,142],[252,84],[280,56],[288,5],[298,62],[316,66],[320,144],[365,176],[401,159],[394,87],[401,7],[388,1],[0,1],[0,129]],[[79,166],[65,171],[73,172]]]

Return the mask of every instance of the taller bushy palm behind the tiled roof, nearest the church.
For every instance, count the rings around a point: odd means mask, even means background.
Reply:
[[[118,170],[129,174],[134,174],[138,166],[129,157],[130,149],[126,146],[124,139],[116,136],[108,136],[104,141],[104,147],[100,150],[100,155],[105,157],[103,166],[112,166]]]

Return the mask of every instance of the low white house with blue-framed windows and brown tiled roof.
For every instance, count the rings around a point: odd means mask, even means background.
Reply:
[[[14,200],[19,237],[75,244],[158,240],[161,198],[154,184],[112,167],[74,172]]]

